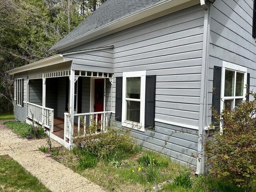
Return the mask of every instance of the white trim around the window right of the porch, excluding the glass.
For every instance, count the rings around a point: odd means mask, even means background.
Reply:
[[[141,78],[141,108],[140,122],[131,122],[126,119],[126,78],[140,77]],[[145,87],[146,87],[146,71],[123,72],[122,79],[122,126],[145,131]],[[138,101],[138,100],[136,100]]]

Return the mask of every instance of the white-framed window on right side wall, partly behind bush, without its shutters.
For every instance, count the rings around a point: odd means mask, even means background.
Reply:
[[[229,107],[237,109],[245,100],[247,84],[247,68],[224,62],[222,67],[221,111]]]

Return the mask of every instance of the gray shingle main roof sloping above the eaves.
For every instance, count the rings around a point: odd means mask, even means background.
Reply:
[[[163,0],[107,0],[51,49],[161,1]]]

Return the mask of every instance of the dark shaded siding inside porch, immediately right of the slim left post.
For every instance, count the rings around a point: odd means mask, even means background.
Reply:
[[[54,109],[54,116],[58,111],[58,78],[46,79],[45,107]]]

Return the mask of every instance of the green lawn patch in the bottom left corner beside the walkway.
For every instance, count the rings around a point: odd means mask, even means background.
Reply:
[[[0,156],[0,191],[50,192],[9,156]]]

